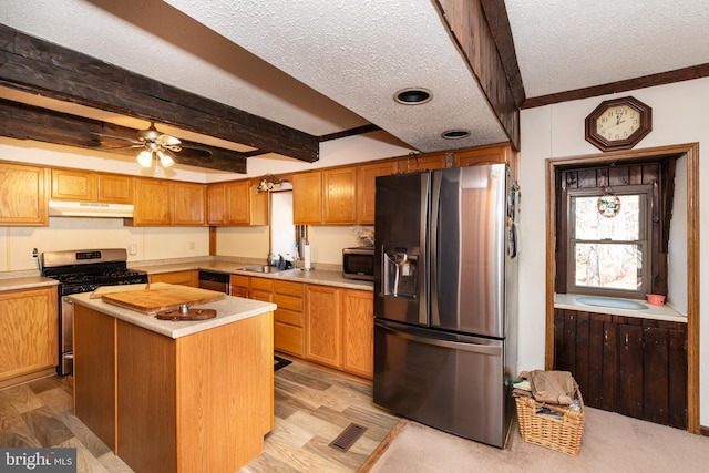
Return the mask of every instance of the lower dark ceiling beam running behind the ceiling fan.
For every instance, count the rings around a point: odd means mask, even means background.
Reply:
[[[137,130],[104,123],[83,116],[0,99],[0,135],[16,140],[96,150],[126,156],[136,156],[130,148]],[[125,140],[105,140],[104,135]],[[246,157],[236,151],[182,141],[183,150],[175,153],[175,163],[209,169],[246,174]]]

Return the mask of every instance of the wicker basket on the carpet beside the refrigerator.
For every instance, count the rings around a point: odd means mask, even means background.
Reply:
[[[561,405],[543,404],[531,397],[515,398],[517,405],[517,421],[522,440],[547,449],[556,450],[567,455],[578,456],[580,438],[584,434],[584,400],[580,391],[576,391],[580,412],[575,412]],[[554,419],[536,413],[537,408],[548,408],[562,414]]]

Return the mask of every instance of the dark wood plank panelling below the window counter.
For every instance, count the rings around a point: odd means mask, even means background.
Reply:
[[[687,428],[687,326],[555,309],[554,369],[593,408]]]

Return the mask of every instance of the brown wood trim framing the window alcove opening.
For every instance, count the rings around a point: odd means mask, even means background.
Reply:
[[[699,144],[679,144],[583,156],[546,160],[546,325],[545,369],[554,367],[554,278],[556,241],[557,169],[569,166],[639,163],[660,156],[685,155],[687,158],[687,430],[707,433],[699,420]],[[677,187],[681,192],[681,187]]]

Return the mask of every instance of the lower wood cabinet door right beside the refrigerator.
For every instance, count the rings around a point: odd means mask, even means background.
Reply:
[[[373,294],[342,290],[342,369],[373,378],[374,310]]]

